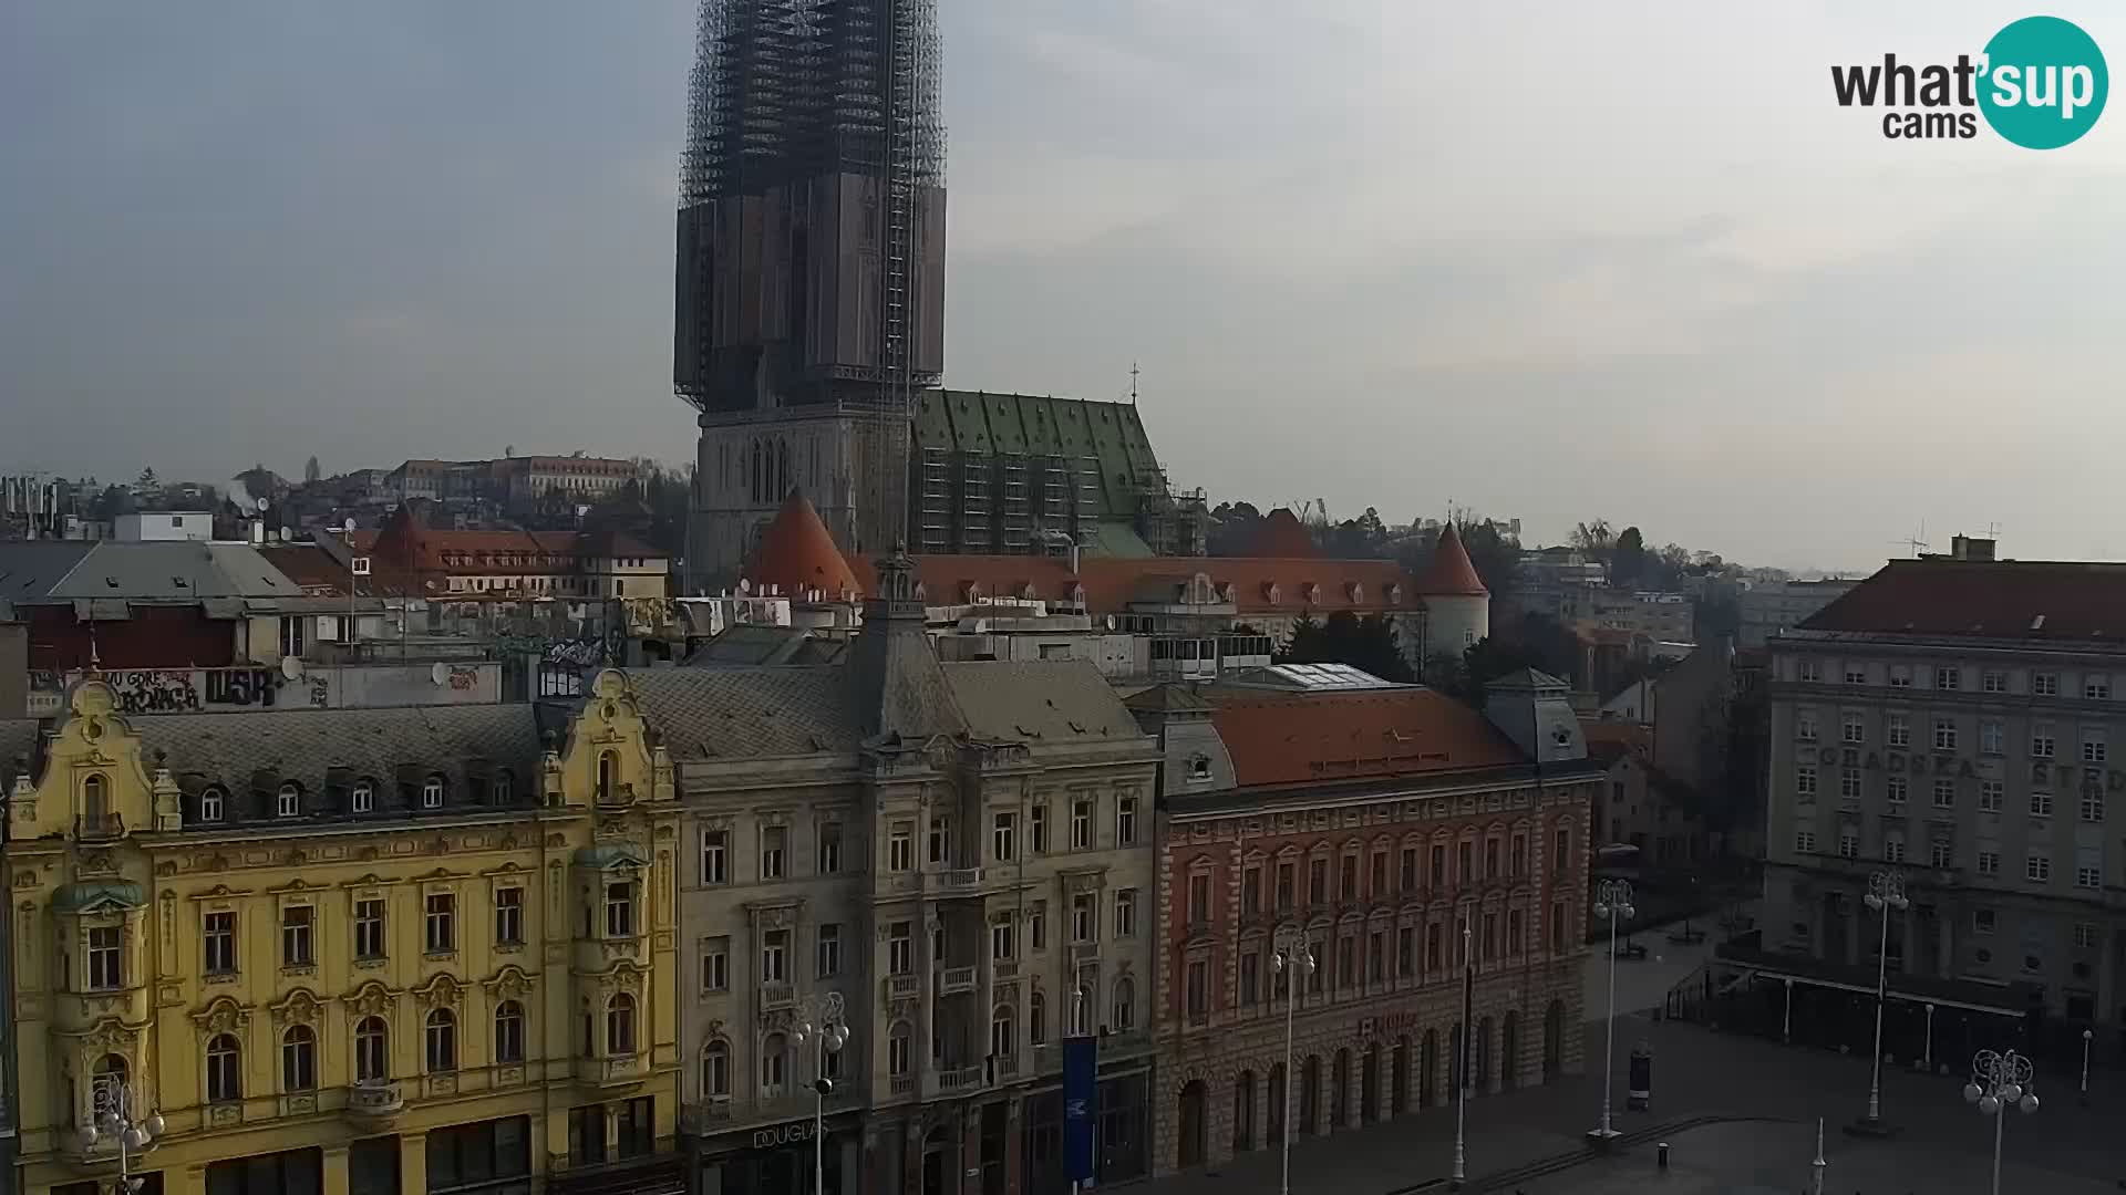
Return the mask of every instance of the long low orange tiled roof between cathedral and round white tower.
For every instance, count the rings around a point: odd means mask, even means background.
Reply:
[[[1231,600],[1239,617],[1314,617],[1350,610],[1416,610],[1410,572],[1393,559],[1265,559],[1265,557],[1082,557],[1078,574],[1065,557],[1031,555],[921,555],[916,578],[925,602],[952,606],[974,598],[1031,598],[1069,602],[1080,589],[1095,615],[1112,615],[1131,602],[1171,602],[1178,580],[1203,574],[1218,602]],[[872,561],[848,557],[859,589],[870,593]],[[1150,589],[1148,589],[1150,587]]]

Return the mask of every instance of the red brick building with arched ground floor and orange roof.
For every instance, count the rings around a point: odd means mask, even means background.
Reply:
[[[1601,768],[1565,685],[1505,678],[1482,712],[1418,687],[1203,697],[1231,768],[1205,753],[1161,797],[1157,1167],[1276,1148],[1286,1106],[1297,1135],[1450,1108],[1463,942],[1471,1093],[1577,1074]],[[1286,1095],[1293,938],[1316,970]]]

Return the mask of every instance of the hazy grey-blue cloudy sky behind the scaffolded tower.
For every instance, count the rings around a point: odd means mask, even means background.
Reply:
[[[2035,153],[1830,96],[2035,9],[940,6],[950,385],[1140,361],[1214,500],[2126,557],[2126,100]],[[691,60],[691,0],[0,4],[0,468],[689,459]]]

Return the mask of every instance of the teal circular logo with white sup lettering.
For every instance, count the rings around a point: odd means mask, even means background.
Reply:
[[[2073,145],[2103,115],[2111,91],[2105,51],[2060,17],[2024,17],[1994,34],[1984,70],[1986,123],[2024,149]]]

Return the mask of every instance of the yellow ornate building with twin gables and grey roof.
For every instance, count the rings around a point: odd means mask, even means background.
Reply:
[[[111,1191],[121,1146],[145,1195],[685,1186],[678,808],[619,672],[574,717],[91,680],[6,819],[26,1191]]]

